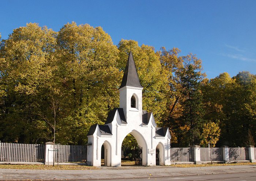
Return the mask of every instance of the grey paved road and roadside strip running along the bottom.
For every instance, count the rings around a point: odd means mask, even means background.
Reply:
[[[256,181],[256,165],[208,167],[101,167],[99,170],[0,169],[0,180],[232,180]]]

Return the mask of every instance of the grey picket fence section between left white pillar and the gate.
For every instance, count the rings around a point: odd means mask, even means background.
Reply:
[[[86,162],[86,146],[56,145],[54,162]]]

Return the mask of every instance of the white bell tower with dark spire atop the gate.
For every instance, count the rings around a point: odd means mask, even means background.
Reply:
[[[124,70],[124,76],[119,88],[120,108],[124,110],[127,123],[142,123],[142,85],[130,51]]]

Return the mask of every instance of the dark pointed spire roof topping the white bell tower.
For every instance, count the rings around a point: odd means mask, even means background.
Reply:
[[[119,89],[124,86],[132,86],[132,87],[139,87],[143,88],[140,84],[139,76],[137,73],[137,69],[135,66],[135,62],[133,60],[132,52],[130,51],[128,56],[128,61],[126,63],[126,67],[124,70],[124,76]]]

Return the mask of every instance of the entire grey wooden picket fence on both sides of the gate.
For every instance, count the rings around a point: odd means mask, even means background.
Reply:
[[[54,162],[86,162],[87,146],[77,145],[55,145]],[[223,161],[223,148],[200,147],[200,160]],[[53,151],[53,150],[49,150]],[[0,142],[0,162],[45,162],[45,145],[40,144],[18,144]],[[254,148],[256,158],[256,148]],[[248,147],[229,147],[230,161],[248,161]],[[194,152],[192,147],[170,148],[171,162],[194,162]]]

